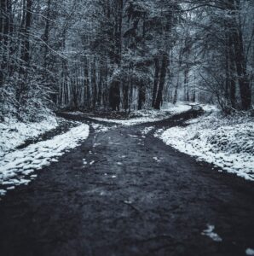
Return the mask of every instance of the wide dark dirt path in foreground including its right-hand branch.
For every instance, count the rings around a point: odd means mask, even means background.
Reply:
[[[153,137],[193,115],[91,131],[0,201],[0,255],[245,255],[254,247],[253,183]]]

